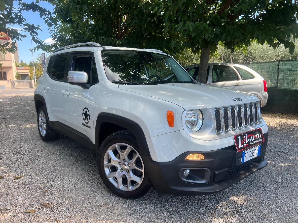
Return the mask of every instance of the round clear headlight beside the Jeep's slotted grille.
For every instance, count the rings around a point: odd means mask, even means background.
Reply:
[[[185,116],[185,125],[191,132],[199,131],[203,124],[203,114],[199,109],[189,110]]]

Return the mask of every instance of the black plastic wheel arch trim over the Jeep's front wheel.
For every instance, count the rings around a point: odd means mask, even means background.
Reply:
[[[145,156],[150,156],[147,140],[141,126],[128,118],[125,118],[116,114],[106,113],[106,112],[102,112],[98,114],[96,119],[95,146],[94,146],[94,150],[96,154],[98,153],[99,147],[100,147],[99,145],[100,131],[101,131],[100,128],[104,122],[109,122],[115,125],[119,125],[123,128],[130,130],[136,136],[136,140],[139,144],[139,149],[141,154]]]

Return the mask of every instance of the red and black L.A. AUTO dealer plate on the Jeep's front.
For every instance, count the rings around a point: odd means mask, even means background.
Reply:
[[[261,128],[235,135],[234,139],[238,152],[254,147],[265,141]]]

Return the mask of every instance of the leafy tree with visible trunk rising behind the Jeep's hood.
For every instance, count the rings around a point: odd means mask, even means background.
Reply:
[[[294,52],[298,35],[298,7],[292,0],[147,0],[148,11],[162,17],[172,46],[201,52],[199,76],[205,82],[209,55],[218,44],[246,51],[252,40],[277,48],[281,43]],[[178,34],[178,35],[174,35]]]

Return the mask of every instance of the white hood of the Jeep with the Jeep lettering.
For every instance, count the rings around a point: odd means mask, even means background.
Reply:
[[[182,108],[201,109],[251,103],[260,99],[252,94],[207,84],[122,85],[119,89],[152,96],[175,103]],[[242,101],[234,101],[241,98]]]

